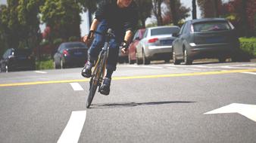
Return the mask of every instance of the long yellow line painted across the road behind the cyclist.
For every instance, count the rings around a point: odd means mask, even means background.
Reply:
[[[229,70],[229,71],[193,72],[193,73],[181,73],[181,74],[170,74],[170,75],[142,75],[142,76],[131,76],[131,77],[114,77],[113,80],[141,79],[141,78],[168,78],[168,77],[183,77],[183,76],[195,76],[195,75],[220,75],[220,74],[230,74],[230,73],[239,73],[239,72],[256,72],[256,68]],[[89,81],[89,79],[65,80],[65,81],[36,81],[36,82],[27,82],[27,83],[0,84],[0,87],[14,87],[14,86],[36,85],[36,84],[61,84],[61,83],[83,82],[83,81]]]

